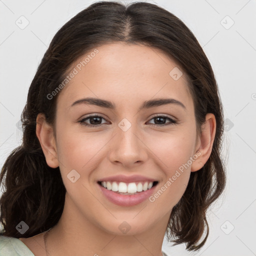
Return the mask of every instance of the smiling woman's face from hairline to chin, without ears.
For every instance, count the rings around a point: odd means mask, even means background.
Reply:
[[[129,234],[142,232],[166,224],[185,191],[198,149],[193,100],[184,72],[178,79],[169,74],[181,67],[158,49],[111,43],[97,50],[86,53],[93,57],[84,66],[79,63],[86,55],[74,63],[77,72],[57,97],[55,143],[65,204],[107,232],[120,233],[124,220]],[[113,107],[78,101],[88,97]],[[172,100],[144,104],[156,99]],[[157,184],[132,195],[140,199],[98,184],[121,181],[109,178],[117,175],[139,175],[136,186],[146,179]]]

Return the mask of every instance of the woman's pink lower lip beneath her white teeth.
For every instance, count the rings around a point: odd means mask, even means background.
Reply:
[[[99,189],[103,193],[103,195],[112,203],[115,203],[120,206],[132,206],[141,203],[142,201],[146,200],[155,190],[154,185],[150,189],[146,191],[138,192],[137,194],[118,194],[112,190],[108,190],[97,183]]]

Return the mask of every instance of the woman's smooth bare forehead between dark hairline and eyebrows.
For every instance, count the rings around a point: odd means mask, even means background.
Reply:
[[[81,56],[70,70],[75,75],[57,99],[62,106],[83,96],[116,100],[117,106],[153,97],[191,103],[186,74],[174,59],[154,47],[104,44]],[[173,73],[182,75],[173,79]]]

